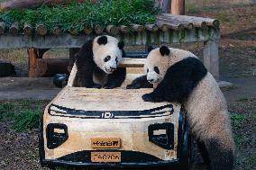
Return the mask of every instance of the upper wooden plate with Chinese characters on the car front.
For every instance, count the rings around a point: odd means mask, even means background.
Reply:
[[[121,139],[94,138],[91,139],[91,148],[121,148]]]

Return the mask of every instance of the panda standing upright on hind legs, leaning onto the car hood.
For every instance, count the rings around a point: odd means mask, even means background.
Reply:
[[[144,68],[155,89],[142,99],[182,103],[208,168],[233,169],[233,132],[224,94],[200,60],[189,51],[162,46],[151,50]],[[128,87],[143,86],[144,79],[139,77]]]

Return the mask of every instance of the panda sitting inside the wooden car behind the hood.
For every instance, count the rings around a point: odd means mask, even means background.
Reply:
[[[121,86],[126,69],[118,67],[123,56],[123,41],[103,35],[88,40],[75,55],[77,86],[114,88]]]

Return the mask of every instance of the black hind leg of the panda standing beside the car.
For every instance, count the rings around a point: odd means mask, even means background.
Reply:
[[[209,170],[232,170],[233,150],[222,147],[222,144],[215,139],[206,139],[204,142],[197,142],[202,157]]]

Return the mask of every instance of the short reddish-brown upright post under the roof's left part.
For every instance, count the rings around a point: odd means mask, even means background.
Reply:
[[[36,77],[38,49],[28,49],[29,53],[29,77]]]

